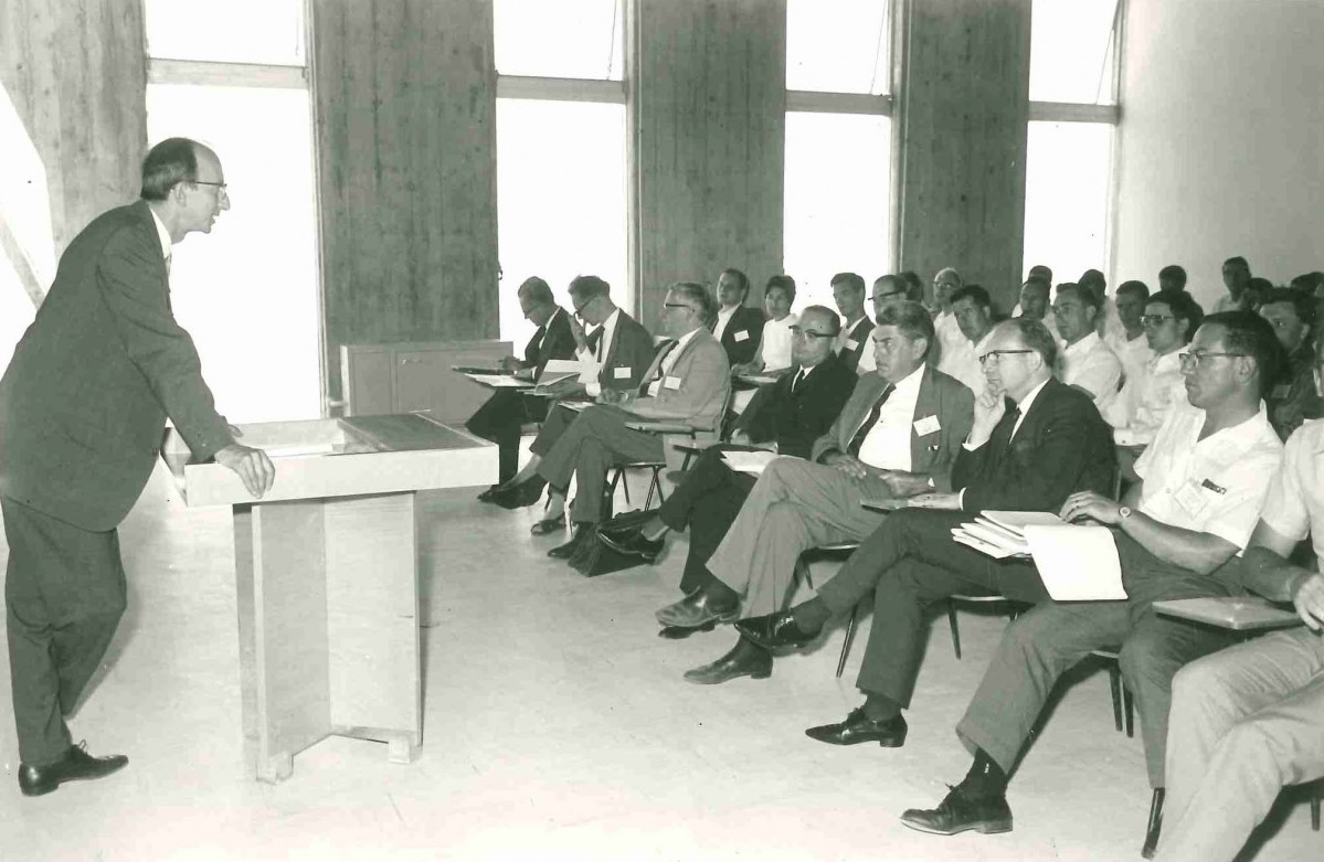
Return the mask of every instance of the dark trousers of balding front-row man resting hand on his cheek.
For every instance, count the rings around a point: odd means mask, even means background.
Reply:
[[[952,540],[964,512],[892,514],[818,589],[833,613],[874,595],[874,622],[857,685],[910,706],[924,655],[925,608],[957,593],[1001,593],[1030,604],[1047,599],[1034,567],[993,560]]]

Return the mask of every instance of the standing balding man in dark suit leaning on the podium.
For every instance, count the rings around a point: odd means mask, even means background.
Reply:
[[[266,454],[236,444],[169,310],[171,245],[229,208],[216,154],[183,138],[143,162],[142,200],[83,228],[0,380],[0,510],[19,788],[99,779],[128,759],[73,745],[64,716],[124,610],[117,526],[142,494],[166,418],[195,458],[216,458],[254,497]]]

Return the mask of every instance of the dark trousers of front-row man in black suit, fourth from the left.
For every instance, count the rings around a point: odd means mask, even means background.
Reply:
[[[728,467],[722,453],[748,449],[731,445],[706,449],[658,508],[658,518],[667,527],[690,531],[690,555],[681,576],[681,591],[686,595],[716,580],[708,571],[708,557],[722,544],[757,481]]]

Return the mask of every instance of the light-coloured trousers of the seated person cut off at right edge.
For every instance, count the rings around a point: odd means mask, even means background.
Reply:
[[[1284,785],[1324,777],[1324,638],[1295,629],[1188,665],[1170,726],[1158,858],[1231,859]]]

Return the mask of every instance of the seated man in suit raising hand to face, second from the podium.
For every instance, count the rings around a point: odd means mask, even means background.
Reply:
[[[657,354],[653,336],[634,318],[612,302],[609,287],[597,275],[576,275],[569,287],[575,316],[569,319],[571,335],[575,338],[575,355],[585,363],[600,367],[597,380],[581,384],[567,379],[553,384],[557,399],[604,399],[616,400],[621,392],[639,388],[643,372],[647,371]],[[584,334],[583,320],[597,327],[592,335]],[[538,502],[542,497],[542,483],[532,479],[552,445],[560,440],[577,413],[567,407],[551,407],[547,420],[530,446],[534,457],[504,485],[489,489],[481,497],[485,502],[496,503],[503,508],[520,508]],[[516,490],[518,489],[518,490]],[[532,497],[530,497],[532,494]],[[548,510],[543,520],[534,524],[534,535],[545,535],[561,530],[561,514],[565,498],[553,489],[549,494]]]

